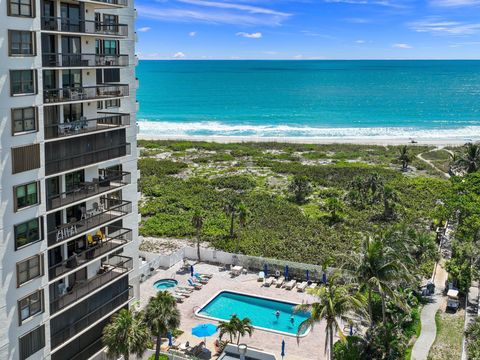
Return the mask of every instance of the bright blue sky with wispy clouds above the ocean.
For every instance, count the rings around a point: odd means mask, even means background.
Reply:
[[[480,0],[136,0],[141,59],[480,59]]]

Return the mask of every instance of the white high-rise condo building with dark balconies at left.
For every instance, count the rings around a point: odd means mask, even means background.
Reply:
[[[0,359],[88,359],[138,294],[133,0],[0,4]]]

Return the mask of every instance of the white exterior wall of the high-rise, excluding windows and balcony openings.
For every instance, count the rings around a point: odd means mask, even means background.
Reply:
[[[124,0],[122,0],[124,1]],[[112,1],[116,3],[116,1]],[[86,197],[76,202],[72,202],[66,206],[62,206],[56,209],[47,210],[47,197],[50,195],[47,193],[47,181],[49,178],[60,177],[59,192],[65,191],[66,178],[65,174],[71,173],[72,170],[65,171],[63,173],[55,173],[52,175],[46,175],[45,172],[45,144],[47,142],[58,142],[62,139],[73,138],[86,138],[88,135],[95,134],[97,132],[110,133],[114,130],[104,128],[98,130],[88,130],[79,132],[78,134],[72,133],[67,136],[54,139],[46,139],[45,128],[47,119],[44,117],[44,110],[46,107],[58,106],[61,109],[63,106],[46,104],[44,102],[44,79],[43,70],[45,63],[42,62],[42,34],[53,34],[56,37],[57,52],[61,52],[61,38],[64,36],[70,36],[71,33],[63,31],[47,31],[42,30],[42,10],[43,1],[32,0],[34,6],[34,17],[17,17],[10,16],[7,13],[7,6],[9,1],[5,0],[1,2],[0,7],[0,277],[2,286],[0,288],[0,359],[20,359],[19,349],[19,337],[29,333],[38,326],[45,326],[45,346],[40,350],[32,354],[29,359],[50,359],[55,352],[61,351],[61,346],[57,349],[51,349],[50,347],[50,321],[57,314],[50,313],[51,302],[51,284],[55,283],[58,278],[49,278],[49,267],[52,265],[52,259],[49,257],[49,252],[55,247],[61,248],[59,253],[63,254],[62,261],[65,261],[69,254],[67,243],[62,245],[49,245],[47,241],[47,217],[48,214],[62,211],[63,220],[65,222],[71,221],[66,218],[66,209],[72,206],[80,206],[80,204],[90,208],[93,203],[99,203],[100,198],[110,196],[116,191],[121,191],[121,198],[124,201],[131,202],[132,210],[129,214],[121,217],[122,227],[132,230],[132,241],[125,245],[119,246],[115,251],[121,251],[121,256],[131,257],[133,266],[132,270],[125,272],[122,276],[127,276],[130,285],[133,286],[135,296],[138,296],[138,205],[137,205],[137,150],[136,150],[136,81],[135,81],[135,11],[133,8],[133,0],[128,0],[128,5],[115,5],[109,2],[103,1],[69,1],[74,5],[80,5],[81,17],[84,16],[85,20],[94,20],[95,13],[101,14],[116,14],[118,15],[118,22],[120,24],[126,24],[128,27],[128,35],[115,36],[115,35],[101,35],[101,34],[85,34],[79,32],[74,34],[81,37],[82,54],[95,54],[95,39],[115,39],[120,43],[120,54],[128,55],[128,64],[126,66],[98,66],[98,67],[71,67],[72,69],[81,69],[82,72],[82,87],[96,86],[96,70],[97,68],[119,68],[120,69],[120,84],[128,84],[129,95],[120,98],[121,106],[116,109],[102,110],[109,113],[122,113],[129,114],[129,125],[121,126],[125,129],[126,142],[130,144],[130,152],[126,156],[115,157],[101,161],[100,163],[91,164],[85,167],[80,167],[80,170],[84,170],[85,181],[92,181],[94,178],[99,177],[99,172],[102,169],[120,165],[123,172],[130,173],[129,183],[119,189],[112,189],[101,194],[92,194],[90,197]],[[57,16],[60,14],[60,0],[53,0],[57,10]],[[34,32],[36,54],[34,56],[9,56],[9,39],[8,30],[28,30]],[[12,96],[10,93],[11,83],[11,70],[27,70],[35,69],[37,72],[36,88],[37,91],[33,95],[25,96]],[[58,87],[62,87],[62,71],[66,71],[69,68],[52,68],[57,74]],[[90,120],[95,117],[99,117],[101,114],[97,110],[98,102],[103,101],[100,99],[84,100],[79,98],[77,101],[70,101],[70,103],[82,103],[83,104],[83,116]],[[37,129],[36,131],[23,133],[20,135],[12,134],[12,119],[11,109],[35,106],[37,110]],[[102,115],[103,116],[103,115]],[[50,119],[51,120],[51,119]],[[49,121],[50,121],[49,120]],[[66,121],[63,116],[58,119],[59,123]],[[89,122],[90,124],[91,122]],[[12,151],[11,149],[17,146],[25,146],[30,144],[40,144],[40,164],[38,169],[24,171],[14,174],[12,171]],[[88,144],[86,144],[88,145]],[[15,210],[14,207],[14,187],[20,184],[29,183],[32,181],[39,181],[40,189],[40,201],[37,205],[30,206],[21,210]],[[42,240],[32,243],[22,248],[15,248],[15,234],[14,227],[17,224],[21,224],[25,221],[41,217],[42,222]],[[81,220],[81,219],[77,219]],[[98,226],[90,227],[89,233],[95,234],[98,229],[106,229],[105,225],[108,223],[101,223]],[[73,236],[72,241],[79,236]],[[76,240],[75,240],[76,241]],[[70,242],[70,241],[69,241]],[[75,242],[75,249],[77,242]],[[76,251],[76,250],[75,250]],[[84,251],[84,250],[79,250]],[[43,268],[42,276],[34,278],[21,286],[17,286],[17,264],[31,256],[42,254],[43,255]],[[113,256],[113,253],[106,253],[105,257]],[[104,263],[103,256],[94,259],[87,260],[82,267],[86,268],[87,279],[82,281],[75,280],[75,286],[78,288],[78,284],[91,283],[93,279],[98,276],[98,269],[101,264]],[[78,267],[79,269],[80,267]],[[73,273],[77,272],[77,268],[72,268],[59,278],[72,277]],[[76,277],[78,276],[75,275]],[[75,291],[75,286],[73,290]],[[105,284],[108,286],[108,283]],[[19,309],[18,300],[23,297],[32,294],[36,290],[43,289],[43,312],[36,314],[29,319],[19,322]],[[88,298],[89,294],[86,294],[82,298],[79,298],[71,306],[84,301]],[[120,309],[121,307],[119,307]],[[102,317],[98,320],[101,322],[107,317]],[[89,327],[94,327],[95,324],[91,324],[82,331],[88,331]],[[73,338],[75,338],[73,334]],[[80,357],[81,358],[81,357]]]

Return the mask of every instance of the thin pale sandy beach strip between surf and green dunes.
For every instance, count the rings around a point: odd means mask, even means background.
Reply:
[[[187,141],[209,141],[218,143],[241,143],[241,142],[279,142],[293,144],[358,144],[358,145],[432,145],[437,147],[461,146],[466,142],[480,141],[480,136],[470,139],[412,139],[408,138],[348,138],[348,137],[252,137],[252,136],[158,136],[138,134],[140,140],[187,140]]]

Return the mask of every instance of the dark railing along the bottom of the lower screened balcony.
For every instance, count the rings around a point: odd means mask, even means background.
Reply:
[[[125,291],[115,296],[110,301],[102,304],[99,308],[96,308],[92,312],[88,313],[84,317],[80,318],[68,327],[51,335],[52,349],[63,344],[68,339],[72,338],[80,331],[91,326],[101,318],[107,316],[115,309],[125,305],[133,298],[133,287],[129,286]]]

